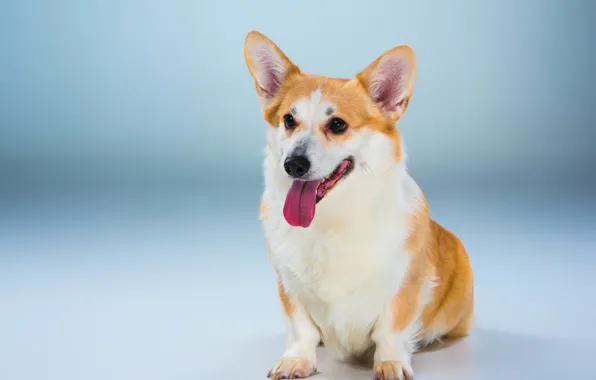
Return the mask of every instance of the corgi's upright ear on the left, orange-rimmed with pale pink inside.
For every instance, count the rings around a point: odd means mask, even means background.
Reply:
[[[286,79],[300,73],[300,69],[273,41],[257,31],[251,31],[246,36],[244,60],[264,107],[279,95]]]

